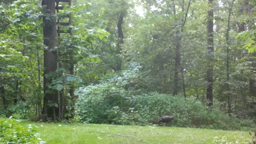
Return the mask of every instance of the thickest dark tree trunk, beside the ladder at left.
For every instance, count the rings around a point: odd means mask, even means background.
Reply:
[[[44,108],[43,114],[47,118],[54,119],[59,115],[59,99],[58,93],[54,89],[50,89],[49,85],[51,79],[49,75],[53,74],[57,69],[57,31],[55,15],[55,1],[43,0],[42,5],[46,7],[45,14],[50,15],[43,18],[44,27],[44,45],[47,48],[44,49]]]

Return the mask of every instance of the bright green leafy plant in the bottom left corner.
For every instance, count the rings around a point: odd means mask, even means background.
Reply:
[[[32,124],[22,125],[15,119],[0,119],[0,143],[45,143]]]

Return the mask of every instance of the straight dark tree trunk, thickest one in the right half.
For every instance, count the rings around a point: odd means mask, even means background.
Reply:
[[[208,10],[207,20],[207,71],[206,71],[206,99],[207,105],[211,107],[213,105],[213,58],[214,58],[214,47],[213,47],[213,0],[208,0],[210,10]]]

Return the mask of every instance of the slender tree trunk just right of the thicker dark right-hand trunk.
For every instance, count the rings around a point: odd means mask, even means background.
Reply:
[[[235,0],[232,0],[231,6],[229,8],[229,17],[228,17],[228,27],[226,28],[226,91],[227,91],[227,97],[228,97],[228,113],[229,116],[231,114],[231,93],[230,93],[230,87],[229,87],[229,31],[230,31],[230,17],[232,12],[232,7]]]

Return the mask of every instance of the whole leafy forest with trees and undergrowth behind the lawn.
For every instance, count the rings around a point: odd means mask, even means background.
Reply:
[[[0,3],[3,119],[256,127],[254,0]]]

